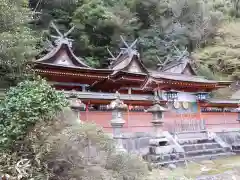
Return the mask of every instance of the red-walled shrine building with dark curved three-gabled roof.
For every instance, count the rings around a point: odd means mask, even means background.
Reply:
[[[125,44],[119,54],[111,55],[105,69],[90,67],[77,57],[71,41],[59,38],[41,58],[34,60],[34,70],[66,96],[76,95],[81,103],[80,119],[99,124],[111,131],[109,104],[120,93],[127,104],[124,132],[149,132],[152,115],[146,110],[158,99],[168,109],[164,129],[169,132],[194,130],[191,124],[203,122],[207,129],[240,128],[237,99],[212,99],[211,92],[227,87],[230,81],[208,80],[198,76],[189,55],[148,69],[134,48],[136,41]],[[184,126],[185,125],[185,126]],[[189,125],[189,126],[186,126]]]

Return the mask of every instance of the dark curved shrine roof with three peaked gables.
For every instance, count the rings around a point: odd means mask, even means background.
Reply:
[[[108,69],[95,69],[85,64],[82,58],[78,58],[73,53],[67,39],[61,39],[57,46],[53,47],[48,54],[36,60],[34,63],[43,65],[44,69],[46,69],[46,67],[54,67],[54,69],[67,69],[68,71],[76,73],[77,71],[85,71],[88,73],[100,72],[105,74],[106,79],[118,78],[118,75],[125,77],[140,75],[142,78],[150,81],[172,80],[211,85],[218,84],[217,81],[196,76],[189,62],[189,58],[185,56],[179,58],[176,62],[172,61],[166,64],[158,71],[149,70],[141,61],[139,53],[132,48],[134,43],[129,46],[125,42],[125,45],[127,48],[122,48],[119,55],[113,58],[114,61]],[[130,79],[128,81],[130,81]]]

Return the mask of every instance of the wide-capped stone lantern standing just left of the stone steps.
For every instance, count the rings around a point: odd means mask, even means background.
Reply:
[[[167,111],[166,108],[160,105],[158,100],[154,100],[153,106],[147,109],[147,112],[152,113],[152,125],[154,128],[155,137],[162,137],[163,113]]]

